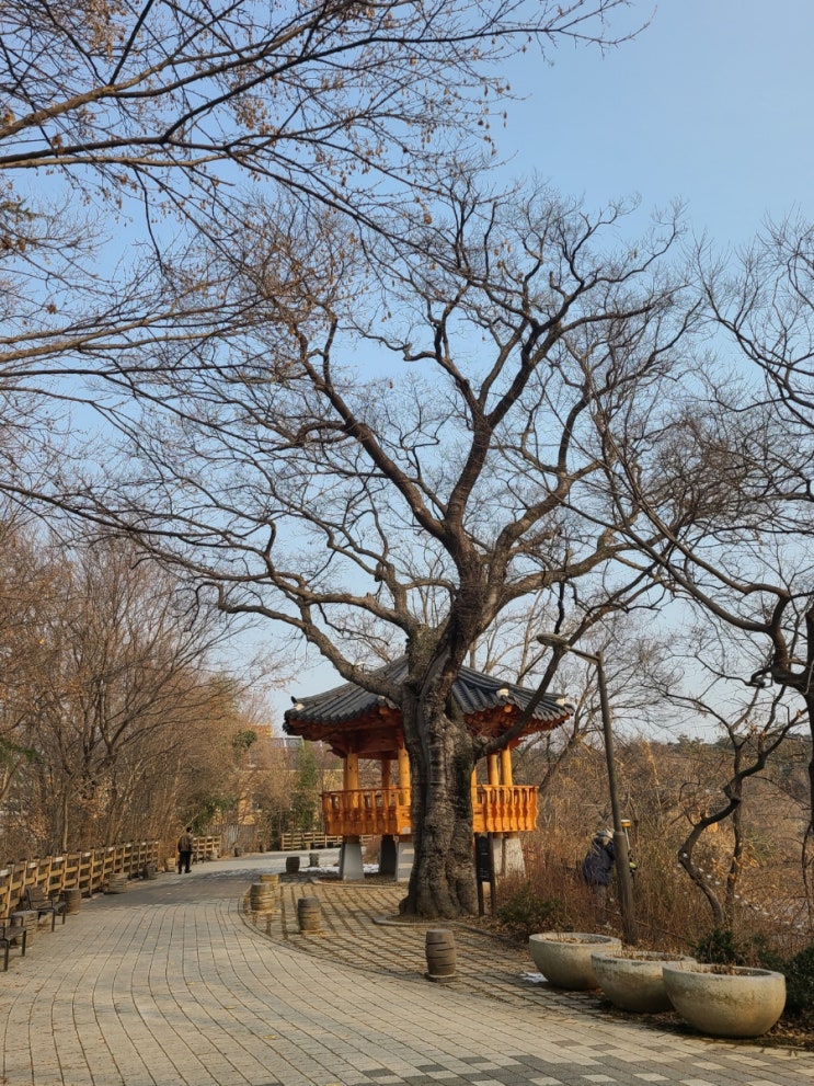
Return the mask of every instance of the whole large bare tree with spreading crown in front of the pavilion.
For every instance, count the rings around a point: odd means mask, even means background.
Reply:
[[[134,400],[111,412],[128,438],[121,480],[74,496],[213,585],[225,610],[299,631],[401,707],[410,912],[477,908],[469,781],[493,747],[449,697],[472,645],[505,608],[563,583],[589,596],[593,578],[608,609],[653,591],[615,567],[627,545],[597,419],[658,426],[693,310],[664,266],[676,221],[605,247],[623,213],[450,194],[412,241],[422,261],[393,263],[383,322],[335,238],[295,251],[268,222],[251,262],[222,272],[247,298],[242,335],[205,341],[194,365],[128,359]],[[577,626],[578,593],[573,606]],[[406,653],[398,687],[367,666],[371,631]]]

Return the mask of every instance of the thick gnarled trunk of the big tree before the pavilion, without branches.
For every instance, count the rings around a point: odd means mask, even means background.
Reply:
[[[415,860],[403,914],[452,919],[478,911],[472,740],[444,710],[443,685],[402,706],[410,754]]]

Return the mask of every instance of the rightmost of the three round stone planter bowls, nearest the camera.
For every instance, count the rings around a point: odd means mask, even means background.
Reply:
[[[711,1037],[759,1037],[786,1006],[786,978],[768,969],[675,962],[662,971],[678,1014]]]

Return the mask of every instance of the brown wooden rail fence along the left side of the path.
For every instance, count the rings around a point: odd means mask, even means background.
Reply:
[[[216,859],[219,850],[220,837],[195,838],[196,859]],[[104,888],[112,874],[140,878],[149,866],[158,869],[168,860],[173,862],[167,853],[160,841],[140,841],[7,864],[0,869],[0,916],[18,907],[28,887],[46,895],[79,888],[83,898],[90,898]]]

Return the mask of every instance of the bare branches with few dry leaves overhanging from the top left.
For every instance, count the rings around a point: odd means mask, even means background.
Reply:
[[[199,268],[177,271],[191,238],[245,226],[259,190],[359,229],[383,228],[382,206],[429,202],[431,174],[454,169],[463,146],[491,150],[508,58],[618,44],[634,27],[612,34],[608,21],[628,2],[11,0],[3,388],[55,395],[55,371],[172,339],[177,306],[192,310],[200,287]]]

